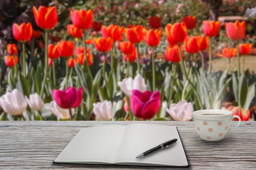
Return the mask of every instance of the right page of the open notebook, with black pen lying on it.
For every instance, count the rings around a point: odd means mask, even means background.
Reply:
[[[172,139],[177,142],[169,148],[135,159],[138,155]],[[114,164],[187,166],[186,155],[175,126],[127,125]]]

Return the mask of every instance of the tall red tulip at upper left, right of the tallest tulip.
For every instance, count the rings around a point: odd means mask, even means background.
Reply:
[[[73,10],[70,11],[70,16],[74,26],[76,26],[79,29],[88,29],[93,24],[92,10]]]

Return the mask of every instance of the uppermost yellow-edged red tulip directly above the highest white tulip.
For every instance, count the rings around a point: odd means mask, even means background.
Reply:
[[[125,29],[125,37],[131,43],[140,43],[144,39],[145,28],[143,26],[134,26]]]

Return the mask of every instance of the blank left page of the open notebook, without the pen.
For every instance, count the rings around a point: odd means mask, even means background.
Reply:
[[[82,128],[55,159],[56,163],[113,164],[125,126]]]

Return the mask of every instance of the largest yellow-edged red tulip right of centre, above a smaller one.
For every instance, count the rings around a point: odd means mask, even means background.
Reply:
[[[188,35],[185,23],[167,24],[165,31],[169,41],[176,44],[184,42]]]

